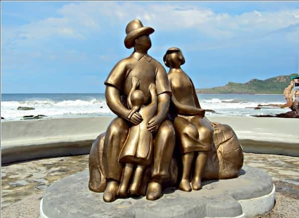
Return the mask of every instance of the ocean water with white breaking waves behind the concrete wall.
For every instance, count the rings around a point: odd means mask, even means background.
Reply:
[[[1,117],[5,120],[21,120],[23,116],[45,115],[47,118],[110,117],[115,116],[105,101],[104,93],[55,93],[55,94],[1,94]],[[202,108],[216,113],[206,115],[220,117],[249,117],[275,115],[289,108],[263,108],[254,110],[257,104],[283,104],[283,95],[252,94],[198,94]],[[35,110],[19,111],[19,106]]]

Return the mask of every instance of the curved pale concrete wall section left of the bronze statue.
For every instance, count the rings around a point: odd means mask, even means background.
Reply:
[[[1,122],[2,164],[88,154],[112,117]]]

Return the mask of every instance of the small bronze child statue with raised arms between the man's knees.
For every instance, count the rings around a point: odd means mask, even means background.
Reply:
[[[137,110],[143,118],[143,121],[136,126],[132,126],[128,138],[121,150],[119,161],[125,163],[121,184],[118,190],[120,197],[127,196],[128,184],[131,175],[136,166],[132,183],[129,189],[130,195],[138,195],[139,186],[144,173],[144,169],[151,164],[153,150],[153,135],[147,129],[147,123],[157,112],[157,93],[154,83],[149,85],[151,103],[143,105],[144,94],[136,89],[139,85],[137,77],[132,78],[132,88],[128,95],[128,106],[130,109]]]

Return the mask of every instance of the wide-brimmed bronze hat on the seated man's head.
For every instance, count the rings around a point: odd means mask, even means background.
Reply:
[[[125,46],[126,48],[134,47],[135,39],[143,35],[150,35],[155,30],[151,27],[144,27],[140,20],[131,21],[126,27],[126,38]]]

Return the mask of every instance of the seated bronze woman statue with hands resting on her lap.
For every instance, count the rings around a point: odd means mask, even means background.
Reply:
[[[170,48],[163,61],[170,67],[168,79],[172,91],[172,117],[174,129],[182,155],[182,178],[179,189],[183,191],[199,190],[208,159],[212,149],[213,128],[205,117],[205,110],[198,102],[194,85],[190,77],[181,69],[185,59],[180,49]],[[190,186],[190,173],[195,159],[193,178]]]

